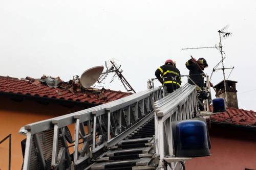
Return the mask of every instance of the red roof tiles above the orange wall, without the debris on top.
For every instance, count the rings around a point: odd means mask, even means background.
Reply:
[[[104,88],[91,88],[90,90],[71,92],[68,88],[54,88],[38,82],[28,81],[25,79],[20,80],[8,76],[0,76],[0,92],[39,96],[47,99],[86,102],[90,104],[104,104],[132,94]]]

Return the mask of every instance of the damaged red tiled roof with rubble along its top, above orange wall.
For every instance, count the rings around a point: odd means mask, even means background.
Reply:
[[[52,78],[47,76],[42,76],[40,79],[27,77],[20,80],[0,76],[0,92],[91,104],[104,104],[132,94],[104,88],[84,89],[80,86],[76,77],[69,82],[64,82],[59,77]]]

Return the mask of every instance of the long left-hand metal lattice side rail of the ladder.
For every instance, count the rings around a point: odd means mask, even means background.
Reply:
[[[41,134],[50,130],[53,133],[51,137],[52,152],[47,155],[52,155],[52,168],[57,168],[60,165],[58,159],[60,151],[59,142],[64,141],[64,147],[66,145],[67,148],[66,139],[65,137],[63,138],[63,134],[65,133],[65,127],[71,124],[75,124],[74,165],[79,165],[79,163],[94,157],[94,154],[98,154],[106,146],[110,147],[118,140],[124,138],[127,132],[133,131],[133,128],[138,126],[138,123],[143,123],[148,117],[150,118],[154,115],[153,104],[162,98],[161,88],[148,89],[106,104],[26,125],[27,142],[23,169],[30,169],[33,148],[36,147],[38,152],[42,152],[44,147],[40,147],[43,136]],[[123,119],[124,116],[126,118]],[[89,134],[86,134],[83,129],[86,123]],[[93,125],[93,129],[91,129],[91,125]],[[105,125],[106,131],[102,131]],[[100,136],[105,137],[103,143],[98,143],[96,140]],[[79,139],[83,140],[83,148],[87,148],[86,151],[89,151],[89,153],[79,154]],[[49,152],[49,149],[47,152]],[[39,153],[39,155],[42,155],[41,162],[45,162],[44,155],[42,153]]]

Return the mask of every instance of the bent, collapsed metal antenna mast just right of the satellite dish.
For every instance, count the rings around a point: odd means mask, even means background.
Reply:
[[[121,65],[118,65],[114,61],[114,59],[111,59],[109,62],[110,62],[109,66],[107,66],[107,64],[105,62],[106,71],[102,72],[102,74],[100,75],[100,77],[97,80],[97,82],[98,83],[103,83],[104,79],[106,79],[106,77],[109,74],[114,72],[114,76],[112,77],[110,83],[112,83],[114,81],[114,78],[117,76],[119,78],[119,80],[121,81],[122,85],[124,86],[124,88],[127,91],[133,91],[134,93],[136,93],[134,88],[130,85],[130,83],[122,75],[123,70],[121,69]]]

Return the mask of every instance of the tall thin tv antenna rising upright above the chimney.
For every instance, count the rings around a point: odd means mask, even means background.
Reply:
[[[228,29],[228,27],[229,27],[229,25],[223,27],[221,30],[218,31],[219,37],[220,37],[219,46],[217,46],[217,44],[216,44],[215,46],[207,46],[207,47],[181,48],[181,50],[194,50],[194,49],[201,49],[201,48],[217,48],[217,50],[220,51],[220,53],[221,53],[221,61],[212,69],[211,76],[212,76],[213,72],[216,71],[216,70],[222,70],[223,71],[223,79],[224,79],[223,81],[224,81],[226,103],[228,101],[227,101],[227,88],[226,88],[225,69],[232,69],[233,70],[233,68],[234,68],[234,67],[230,67],[230,68],[225,68],[224,67],[224,60],[226,59],[226,57],[223,57],[223,54],[225,54],[225,52],[222,50],[222,48],[223,48],[222,41],[227,39],[232,34],[232,33],[228,32],[228,31],[226,31]],[[222,68],[217,68],[221,63],[222,63]],[[232,70],[230,71],[230,74],[231,74]],[[230,74],[229,74],[229,76],[230,76]],[[210,79],[211,79],[211,76],[210,76]],[[228,76],[228,78],[229,78],[229,76]]]

